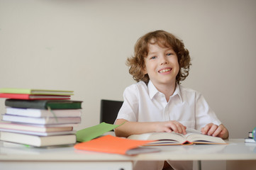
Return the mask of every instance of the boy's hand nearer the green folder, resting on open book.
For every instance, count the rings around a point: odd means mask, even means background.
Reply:
[[[167,122],[157,122],[156,132],[177,132],[186,135],[186,126],[182,125],[175,120],[170,120]]]

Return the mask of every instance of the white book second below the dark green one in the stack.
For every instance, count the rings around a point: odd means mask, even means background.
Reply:
[[[31,118],[18,115],[3,115],[4,121],[16,122],[16,123],[31,123],[39,125],[51,125],[51,124],[64,124],[64,123],[81,123],[80,117],[46,117],[46,118]]]

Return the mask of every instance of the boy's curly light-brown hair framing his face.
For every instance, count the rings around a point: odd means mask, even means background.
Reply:
[[[183,81],[189,75],[191,66],[189,50],[184,47],[182,40],[179,40],[171,33],[167,33],[165,30],[155,30],[138,39],[135,43],[134,55],[126,61],[126,64],[130,67],[129,73],[135,81],[144,81],[148,84],[150,78],[148,74],[143,74],[143,69],[145,68],[144,58],[148,56],[149,44],[155,43],[163,47],[172,47],[177,54],[179,73],[177,74],[176,82],[180,84],[179,81]]]

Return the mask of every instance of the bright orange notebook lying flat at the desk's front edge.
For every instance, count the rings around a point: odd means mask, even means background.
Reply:
[[[94,152],[106,152],[112,154],[141,154],[148,152],[159,152],[160,149],[150,147],[140,147],[152,140],[128,140],[126,138],[114,137],[112,135],[106,135],[103,137],[90,140],[88,142],[81,142],[74,145],[75,149],[94,151]]]

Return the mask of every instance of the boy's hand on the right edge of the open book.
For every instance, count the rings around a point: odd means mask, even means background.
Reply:
[[[208,123],[204,128],[201,128],[201,132],[204,135],[221,137],[224,140],[228,138],[228,130],[222,124],[218,126],[213,123]]]

